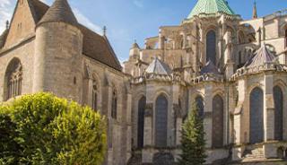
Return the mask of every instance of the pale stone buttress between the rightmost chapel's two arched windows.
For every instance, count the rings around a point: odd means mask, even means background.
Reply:
[[[265,142],[274,140],[274,98],[273,98],[273,75],[265,74],[264,80],[264,130]]]

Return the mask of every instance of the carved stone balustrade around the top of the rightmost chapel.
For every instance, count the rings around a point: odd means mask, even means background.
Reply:
[[[264,65],[257,65],[254,67],[242,67],[236,71],[230,78],[230,82],[234,82],[243,75],[259,74],[266,71],[287,72],[287,65],[279,65],[275,63],[265,63]]]

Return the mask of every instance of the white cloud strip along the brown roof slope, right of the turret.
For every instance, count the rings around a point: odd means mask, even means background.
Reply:
[[[83,13],[81,13],[78,9],[73,8],[73,11],[78,22],[82,23],[84,26],[90,28],[91,30],[94,30],[95,32],[102,34],[102,28],[99,25],[91,22],[91,20],[83,15]]]

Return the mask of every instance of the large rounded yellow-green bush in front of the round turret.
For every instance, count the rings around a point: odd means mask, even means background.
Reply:
[[[49,93],[5,103],[0,164],[100,165],[106,152],[104,121],[92,109]]]

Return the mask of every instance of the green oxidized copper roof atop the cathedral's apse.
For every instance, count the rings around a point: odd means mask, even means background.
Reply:
[[[227,13],[235,15],[226,0],[198,0],[195,8],[188,15],[187,19],[199,15],[200,13]]]

